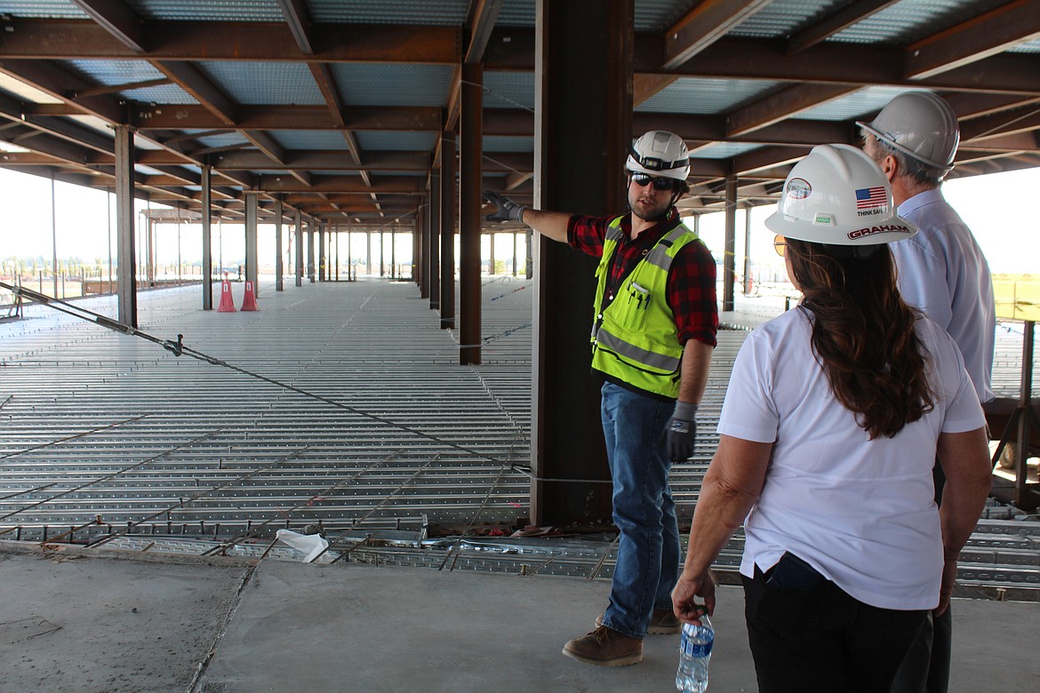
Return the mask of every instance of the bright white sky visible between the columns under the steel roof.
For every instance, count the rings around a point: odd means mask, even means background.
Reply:
[[[109,214],[107,205],[114,206],[114,197],[107,192],[56,182],[54,184],[54,219],[52,225],[51,181],[0,168],[0,190],[3,191],[4,209],[0,228],[0,260],[10,257],[53,256],[53,241],[57,241],[59,259],[79,258],[87,263],[102,260],[107,264],[109,226],[114,235],[114,207]],[[1005,174],[991,174],[957,179],[943,185],[946,199],[961,214],[972,230],[994,273],[1040,274],[1040,168]],[[138,210],[147,204],[136,201]],[[773,207],[751,210],[751,255],[758,265],[782,267],[773,250],[773,233],[763,223],[773,213]],[[744,266],[745,211],[736,218],[736,267]],[[138,220],[140,216],[138,215]],[[180,234],[174,224],[159,229],[157,240],[158,262],[174,264],[178,254],[184,262],[201,259],[200,226],[184,224]],[[261,265],[275,254],[272,226],[261,224],[258,252]],[[244,232],[240,224],[214,225],[214,262],[238,262],[244,257]],[[701,218],[700,235],[717,258],[722,257],[725,238],[725,218],[720,213]],[[138,243],[139,245],[139,243]],[[114,254],[114,243],[112,245]],[[360,251],[355,247],[355,256]],[[345,240],[341,241],[340,259],[346,255]],[[388,254],[389,255],[389,254]],[[500,244],[496,258],[512,255],[511,247]],[[397,261],[411,260],[411,242],[398,240]],[[271,260],[272,262],[272,260]]]

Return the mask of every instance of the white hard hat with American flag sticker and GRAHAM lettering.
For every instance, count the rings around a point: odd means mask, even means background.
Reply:
[[[878,245],[910,238],[888,179],[849,144],[820,144],[790,169],[765,226],[786,238],[829,245]]]

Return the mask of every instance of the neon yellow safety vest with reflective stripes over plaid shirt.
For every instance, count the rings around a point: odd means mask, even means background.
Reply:
[[[603,256],[596,270],[596,314],[592,366],[635,388],[666,397],[679,394],[679,344],[675,317],[667,300],[668,271],[678,251],[697,236],[684,225],[666,234],[636,264],[618,295],[601,311],[610,264],[621,239],[621,219],[607,226]]]

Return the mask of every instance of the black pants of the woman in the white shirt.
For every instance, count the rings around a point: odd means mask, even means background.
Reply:
[[[770,572],[780,569],[787,556]],[[754,580],[743,578],[760,693],[884,693],[891,688],[927,611],[872,607],[818,574],[815,585],[801,589],[766,584],[771,577],[756,570]]]

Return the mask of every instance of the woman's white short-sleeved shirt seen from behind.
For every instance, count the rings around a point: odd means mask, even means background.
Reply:
[[[855,598],[884,609],[934,609],[942,539],[932,467],[940,432],[985,424],[950,336],[921,318],[933,410],[894,437],[869,439],[838,402],[810,345],[809,313],[752,331],[730,378],[719,432],[773,443],[765,484],[745,521],[740,572],[790,551]]]

